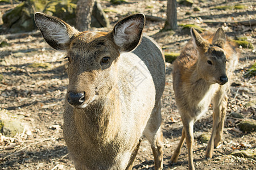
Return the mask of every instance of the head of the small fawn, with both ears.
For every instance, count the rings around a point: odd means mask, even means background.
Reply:
[[[214,33],[212,42],[205,40],[195,30],[191,29],[194,45],[198,52],[197,73],[209,83],[224,85],[228,82],[226,76],[226,56],[224,46],[226,35],[222,28]]]

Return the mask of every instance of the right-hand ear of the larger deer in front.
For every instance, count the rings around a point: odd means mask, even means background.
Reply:
[[[130,52],[141,41],[142,30],[144,28],[145,16],[135,14],[119,21],[113,31],[113,39],[120,51]]]

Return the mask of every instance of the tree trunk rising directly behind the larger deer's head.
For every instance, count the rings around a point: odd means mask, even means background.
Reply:
[[[86,31],[90,28],[91,15],[95,0],[78,0],[76,7],[76,28]]]

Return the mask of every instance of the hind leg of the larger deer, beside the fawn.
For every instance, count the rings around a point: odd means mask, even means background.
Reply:
[[[163,133],[161,130],[161,105],[160,100],[152,111],[143,134],[150,142],[155,160],[155,169],[163,169]]]

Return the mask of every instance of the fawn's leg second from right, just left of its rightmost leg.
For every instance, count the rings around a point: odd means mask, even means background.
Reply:
[[[210,135],[210,140],[208,142],[207,150],[205,152],[205,156],[207,159],[212,158],[213,148],[214,148],[214,139],[216,138],[217,133],[220,134],[220,131],[218,131],[218,130],[222,130],[222,128],[219,127],[219,126],[222,126],[222,125],[220,125],[221,117],[222,117],[222,115],[221,115],[222,100],[224,99],[224,95],[222,95],[222,94],[223,94],[223,89],[220,88],[220,90],[216,93],[216,96],[214,96],[214,98],[213,98],[213,126],[212,126],[212,134]],[[225,119],[225,117],[224,117],[224,119]],[[223,123],[224,123],[224,119],[222,120]]]

